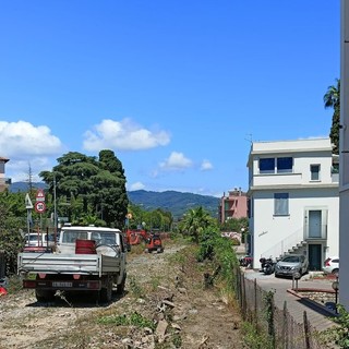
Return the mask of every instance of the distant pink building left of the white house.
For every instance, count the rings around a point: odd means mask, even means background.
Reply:
[[[228,196],[224,193],[219,204],[219,220],[225,222],[231,218],[248,217],[248,196],[241,191],[241,188],[236,188],[228,192]]]

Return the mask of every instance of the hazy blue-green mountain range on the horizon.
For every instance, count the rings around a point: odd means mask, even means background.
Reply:
[[[43,182],[32,183],[33,188],[46,189]],[[26,192],[27,182],[14,182],[10,185],[11,192]],[[191,208],[202,206],[213,217],[218,217],[219,198],[209,195],[182,193],[177,191],[153,192],[145,190],[128,191],[132,204],[142,206],[145,210],[161,208],[172,214],[174,219],[181,218]]]

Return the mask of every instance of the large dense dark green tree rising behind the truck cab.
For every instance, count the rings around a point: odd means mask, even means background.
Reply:
[[[107,226],[122,227],[128,209],[124,170],[111,151],[101,151],[99,159],[70,152],[57,159],[52,171],[39,176],[49,185],[57,205],[64,209],[72,222],[103,221]]]

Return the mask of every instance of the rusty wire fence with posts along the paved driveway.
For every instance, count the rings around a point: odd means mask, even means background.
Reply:
[[[318,332],[310,324],[306,311],[303,322],[294,321],[287,309],[278,309],[274,293],[263,290],[256,280],[249,280],[243,272],[236,273],[237,298],[244,321],[264,334],[268,334],[274,349],[325,349],[338,348],[322,342]]]

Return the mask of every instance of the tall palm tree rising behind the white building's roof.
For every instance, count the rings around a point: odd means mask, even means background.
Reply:
[[[334,108],[329,137],[334,144],[334,154],[339,154],[339,122],[340,122],[340,80],[336,79],[336,86],[328,86],[324,95],[325,108]]]

